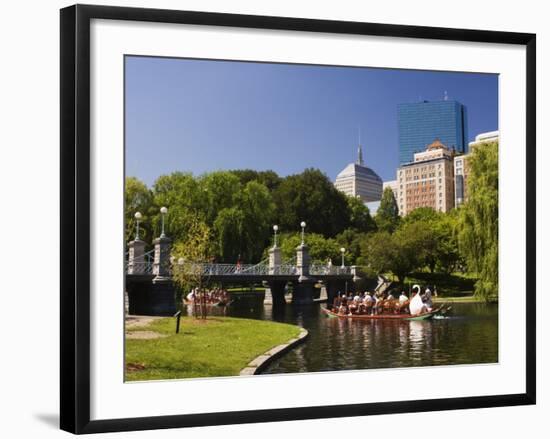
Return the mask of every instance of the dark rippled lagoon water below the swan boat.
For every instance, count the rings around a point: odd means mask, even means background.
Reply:
[[[450,317],[429,321],[330,319],[321,306],[243,304],[213,313],[292,323],[309,331],[304,344],[263,373],[498,362],[498,305],[453,304]]]

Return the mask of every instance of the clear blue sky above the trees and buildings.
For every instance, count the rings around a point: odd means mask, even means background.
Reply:
[[[458,100],[468,136],[498,129],[498,76],[126,57],[126,175],[315,167],[332,180],[363,156],[384,181],[398,165],[397,104]]]

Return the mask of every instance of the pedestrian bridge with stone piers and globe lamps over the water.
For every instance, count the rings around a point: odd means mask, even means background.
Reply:
[[[130,312],[158,314],[175,311],[173,275],[181,270],[191,277],[223,285],[261,283],[271,294],[274,305],[285,303],[285,292],[292,291],[292,303],[313,303],[315,287],[322,284],[331,301],[339,292],[353,289],[359,279],[356,267],[312,263],[306,244],[296,248],[296,256],[283,260],[281,249],[273,247],[269,257],[257,264],[223,264],[179,260],[170,255],[171,241],[166,237],[154,241],[154,250],[145,253],[145,242],[128,244],[126,291]],[[136,306],[133,306],[136,305]],[[162,311],[159,311],[162,310]]]

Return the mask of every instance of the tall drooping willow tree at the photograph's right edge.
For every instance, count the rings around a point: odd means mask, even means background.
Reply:
[[[498,295],[498,142],[477,145],[467,159],[467,201],[460,208],[458,240],[478,281],[475,295]]]

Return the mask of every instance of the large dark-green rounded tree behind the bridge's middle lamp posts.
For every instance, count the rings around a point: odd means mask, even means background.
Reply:
[[[306,221],[308,232],[330,237],[349,226],[347,197],[318,169],[284,178],[273,198],[283,230],[299,230],[300,222]]]

